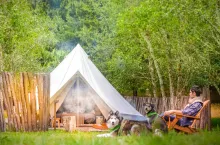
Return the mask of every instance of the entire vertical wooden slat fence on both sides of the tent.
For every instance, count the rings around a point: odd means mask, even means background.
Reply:
[[[210,100],[208,89],[203,90],[204,100]],[[49,124],[49,74],[2,73],[0,75],[0,132],[46,131]],[[204,97],[205,96],[205,97]],[[208,96],[208,97],[207,97]],[[171,109],[170,98],[125,97],[145,115],[143,103],[155,104],[158,113]],[[188,97],[175,97],[176,109],[182,109]],[[197,128],[210,129],[210,104],[201,114]]]

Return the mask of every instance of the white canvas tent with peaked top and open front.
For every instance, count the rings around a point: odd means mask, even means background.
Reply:
[[[51,116],[54,116],[54,101],[59,100],[56,104],[58,110],[67,96],[89,96],[105,118],[112,110],[119,111],[126,119],[147,120],[109,83],[79,44],[50,73]],[[71,105],[71,101],[66,102]]]

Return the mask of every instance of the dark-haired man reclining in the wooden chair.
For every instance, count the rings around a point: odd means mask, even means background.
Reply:
[[[190,89],[189,102],[184,107],[183,110],[169,110],[169,111],[165,111],[160,116],[164,117],[164,119],[166,121],[168,121],[169,118],[170,118],[170,121],[173,121],[174,118],[175,118],[175,115],[172,115],[172,114],[175,114],[175,113],[176,114],[188,115],[188,116],[195,116],[199,112],[199,110],[202,108],[202,106],[203,106],[202,99],[200,98],[200,93],[201,93],[200,88],[198,86],[193,86]],[[177,122],[177,125],[180,125],[180,126],[190,126],[192,124],[192,122],[193,122],[193,119],[182,117]]]

